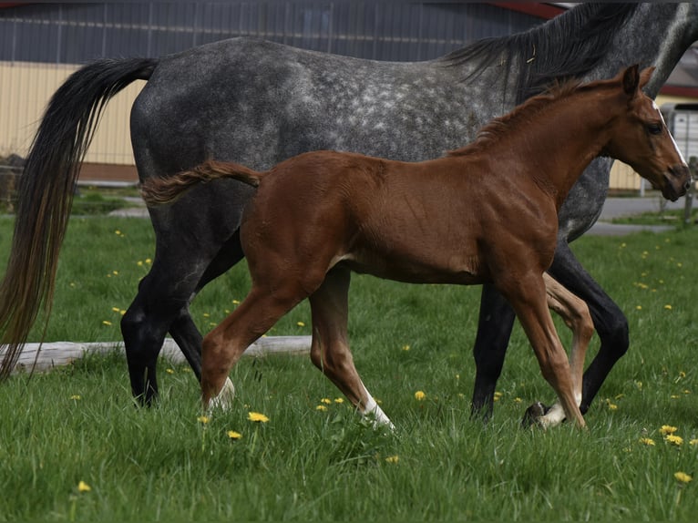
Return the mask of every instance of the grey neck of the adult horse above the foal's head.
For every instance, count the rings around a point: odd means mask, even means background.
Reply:
[[[639,63],[656,67],[645,93],[656,97],[683,53],[698,40],[695,3],[641,3],[617,32],[609,52],[585,79],[615,76],[622,67]]]

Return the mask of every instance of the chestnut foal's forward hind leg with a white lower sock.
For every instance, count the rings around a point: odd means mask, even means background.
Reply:
[[[323,284],[310,295],[313,317],[313,364],[342,391],[362,415],[373,415],[375,423],[395,426],[366,389],[356,372],[347,336],[348,292],[351,272],[334,268]]]

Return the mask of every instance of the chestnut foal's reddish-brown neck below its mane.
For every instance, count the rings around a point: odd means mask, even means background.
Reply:
[[[531,161],[529,175],[539,187],[556,200],[559,207],[591,160],[600,155],[611,139],[611,121],[616,114],[608,97],[617,92],[578,92],[543,108],[520,132],[511,133],[516,143],[502,149],[527,151]],[[520,156],[509,161],[518,170]]]

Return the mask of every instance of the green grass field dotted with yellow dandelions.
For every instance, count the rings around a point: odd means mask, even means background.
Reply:
[[[3,255],[11,229],[0,219]],[[0,520],[693,521],[698,229],[585,237],[574,251],[631,325],[589,431],[519,427],[552,394],[518,326],[494,418],[469,419],[477,287],[354,277],[354,358],[395,434],[365,425],[307,357],[243,358],[235,408],[210,418],[185,366],[161,362],[161,401],[139,409],[123,354],[87,357],[0,385]],[[71,220],[46,340],[119,340],[152,256],[147,220]],[[201,330],[248,286],[242,263],[205,289]],[[304,303],[271,332],[303,333]]]

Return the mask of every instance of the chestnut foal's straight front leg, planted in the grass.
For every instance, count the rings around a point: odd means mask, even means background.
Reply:
[[[574,387],[567,354],[559,341],[548,308],[542,274],[525,274],[505,283],[505,295],[517,313],[539,361],[540,371],[558,395],[568,419],[577,426],[586,423],[574,397]],[[543,421],[545,423],[545,421]]]

